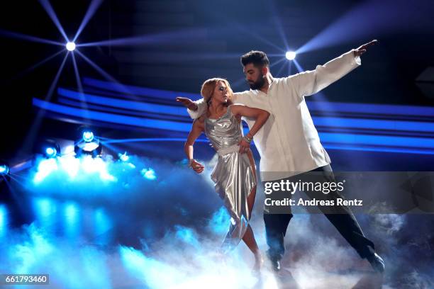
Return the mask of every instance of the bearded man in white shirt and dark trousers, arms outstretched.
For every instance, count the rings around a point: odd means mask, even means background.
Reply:
[[[377,40],[361,45],[315,70],[301,72],[284,78],[274,78],[269,71],[269,60],[265,52],[250,51],[241,57],[243,72],[250,91],[233,95],[233,102],[252,108],[262,108],[271,113],[267,123],[254,137],[260,153],[260,175],[263,183],[279,182],[306,173],[319,172],[322,180],[334,181],[330,158],[321,145],[318,132],[306,106],[305,96],[316,94],[321,89],[345,76],[361,64],[360,55]],[[198,118],[206,110],[202,100],[193,102],[189,98],[177,98],[187,106],[191,118]],[[246,119],[249,127],[251,120]],[[240,142],[240,152],[249,149],[247,142]],[[309,195],[308,192],[305,192]],[[340,198],[337,192],[325,198]],[[384,271],[384,261],[374,251],[374,244],[365,237],[350,208],[335,205],[334,212],[320,208],[340,234],[367,259],[375,271]],[[284,255],[284,236],[292,214],[264,213],[265,231],[269,249],[267,256],[275,271]]]

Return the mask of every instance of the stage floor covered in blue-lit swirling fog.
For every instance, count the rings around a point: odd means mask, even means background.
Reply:
[[[128,161],[115,152],[129,152]],[[173,140],[120,143],[101,160],[39,159],[14,171],[1,183],[0,273],[49,274],[50,285],[40,288],[433,285],[433,215],[357,215],[386,261],[384,276],[359,259],[323,215],[291,220],[279,274],[267,262],[262,273],[252,273],[245,244],[219,256],[230,221],[209,179],[216,160],[206,142],[195,154],[206,164],[204,174],[187,168],[183,143]],[[416,154],[329,154],[335,170],[411,170],[422,163],[429,169],[434,163]],[[265,252],[263,201],[259,188],[251,225]]]

